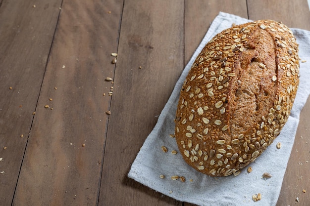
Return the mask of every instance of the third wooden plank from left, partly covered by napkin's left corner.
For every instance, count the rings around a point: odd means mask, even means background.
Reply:
[[[184,69],[183,6],[180,0],[124,3],[100,206],[182,205],[127,174]]]

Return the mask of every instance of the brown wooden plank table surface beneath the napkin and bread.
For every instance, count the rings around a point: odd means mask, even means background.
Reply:
[[[127,173],[219,11],[310,30],[307,0],[0,0],[0,206],[190,206]],[[277,206],[309,206],[309,114]]]

